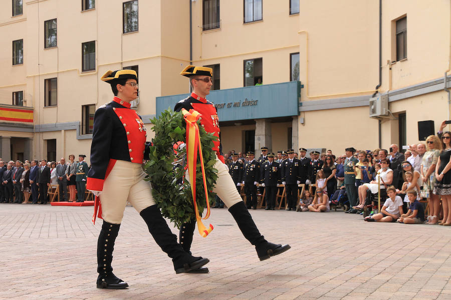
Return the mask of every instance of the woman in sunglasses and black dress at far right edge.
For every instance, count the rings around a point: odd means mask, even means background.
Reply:
[[[435,166],[434,194],[441,195],[443,205],[443,220],[440,225],[451,226],[451,132],[445,131],[441,134],[444,149],[438,156]]]

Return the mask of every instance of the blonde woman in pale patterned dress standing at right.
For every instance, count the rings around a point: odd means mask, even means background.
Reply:
[[[421,197],[429,198],[429,215],[427,216],[428,224],[436,224],[438,215],[440,214],[440,199],[433,192],[435,184],[435,166],[437,165],[438,156],[441,150],[441,142],[435,135],[429,135],[426,138],[427,152],[424,153],[421,161],[421,181],[423,188],[421,189]],[[419,145],[418,147],[419,148]]]

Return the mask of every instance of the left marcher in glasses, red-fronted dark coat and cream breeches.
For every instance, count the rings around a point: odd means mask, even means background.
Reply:
[[[100,106],[94,115],[91,165],[87,189],[96,195],[93,221],[103,218],[97,243],[98,288],[125,288],[128,284],[113,274],[114,242],[125,205],[129,201],[139,212],[161,249],[172,258],[176,273],[195,271],[209,260],[194,257],[177,243],[144,181],[141,167],[146,128],[141,117],[130,109],[138,96],[138,77],[134,70],[107,71],[101,79],[111,84],[113,100]],[[100,207],[99,207],[100,206]],[[98,213],[97,213],[98,210]]]

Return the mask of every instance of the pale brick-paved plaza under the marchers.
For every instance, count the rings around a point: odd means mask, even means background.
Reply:
[[[364,222],[360,215],[251,210],[270,241],[292,248],[260,261],[227,209],[194,235],[208,274],[175,274],[133,207],[113,268],[128,289],[96,288],[102,220],[93,207],[0,204],[3,299],[451,299],[451,228]],[[171,226],[172,227],[172,226]],[[173,228],[176,232],[176,229]]]

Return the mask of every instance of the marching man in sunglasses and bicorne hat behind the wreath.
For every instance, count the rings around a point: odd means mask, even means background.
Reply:
[[[189,97],[179,101],[175,105],[174,110],[180,111],[182,108],[185,108],[188,111],[189,109],[196,110],[202,115],[200,122],[205,130],[217,137],[217,140],[214,141],[213,148],[217,155],[216,163],[213,166],[217,169],[216,185],[213,188],[213,191],[216,192],[225,205],[229,207],[230,213],[235,218],[235,221],[246,239],[248,239],[251,244],[255,245],[260,260],[268,259],[271,256],[285,252],[290,248],[290,245],[268,242],[265,237],[260,234],[243,199],[237,191],[237,184],[234,183],[234,180],[229,174],[228,166],[224,164],[224,158],[220,153],[220,130],[216,108],[213,103],[205,99],[206,95],[210,93],[210,88],[213,85],[211,81],[213,70],[210,67],[188,65],[180,74],[189,77],[193,92]],[[191,247],[194,227],[195,219],[180,228],[180,240],[183,240],[182,245],[186,251],[189,251]]]

